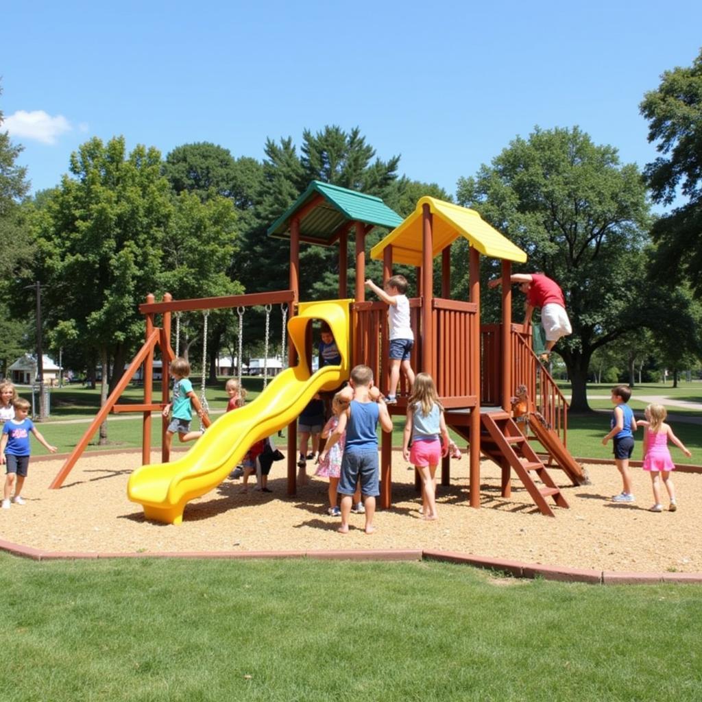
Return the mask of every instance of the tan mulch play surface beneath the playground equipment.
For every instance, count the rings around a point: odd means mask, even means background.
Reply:
[[[158,462],[154,453],[152,461]],[[621,490],[614,465],[586,465],[591,485],[573,487],[552,470],[570,509],[555,518],[539,514],[516,479],[512,497],[500,496],[500,473],[482,463],[482,508],[468,507],[468,458],[452,461],[452,484],[439,486],[437,522],[423,522],[413,470],[393,454],[393,499],[378,510],[376,532],[364,534],[362,515],[352,515],[351,531],[336,532],[338,519],[326,515],[326,481],[310,479],[286,496],[285,462],[275,463],[270,494],[241,494],[240,480],[187,505],[183,524],[146,522],[141,505],[126,498],[129,473],[140,453],[86,453],[59,490],[48,485],[62,460],[34,461],[23,495],[26,505],[0,510],[0,538],[51,552],[194,552],[419,549],[594,570],[702,571],[702,475],[675,472],[677,512],[648,511],[651,481],[633,469],[637,501],[612,503]],[[308,468],[312,472],[312,466]],[[665,505],[667,507],[667,503]]]

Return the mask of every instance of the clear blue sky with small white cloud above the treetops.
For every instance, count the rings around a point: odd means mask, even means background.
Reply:
[[[263,159],[267,137],[299,145],[326,124],[451,193],[537,124],[577,124],[643,166],[642,96],[702,46],[699,0],[65,0],[1,16],[2,128],[33,190],[93,135]]]

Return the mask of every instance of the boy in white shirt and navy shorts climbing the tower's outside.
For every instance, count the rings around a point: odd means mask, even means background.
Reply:
[[[397,402],[397,384],[399,383],[399,371],[402,368],[406,378],[408,390],[411,390],[414,383],[414,371],[409,363],[412,347],[414,345],[414,334],[410,326],[409,300],[407,299],[407,281],[404,275],[394,275],[385,283],[385,289],[380,289],[369,278],[366,285],[376,293],[376,295],[388,303],[388,322],[390,324],[390,386],[387,404]]]

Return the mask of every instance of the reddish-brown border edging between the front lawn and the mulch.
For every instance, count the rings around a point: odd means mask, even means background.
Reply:
[[[702,573],[629,573],[597,571],[581,568],[544,566],[540,563],[522,563],[501,558],[486,558],[470,553],[435,550],[380,549],[380,550],[311,550],[311,551],[187,551],[164,553],[86,553],[42,551],[0,539],[0,550],[35,561],[103,559],[103,558],[314,558],[321,560],[352,561],[441,561],[460,563],[509,574],[514,578],[544,578],[565,583],[590,585],[651,585],[661,583],[694,583],[702,585]]]

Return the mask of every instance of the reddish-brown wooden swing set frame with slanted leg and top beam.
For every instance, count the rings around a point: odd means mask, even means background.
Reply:
[[[274,291],[270,293],[249,293],[245,295],[225,295],[214,298],[192,298],[188,300],[173,300],[171,293],[165,293],[161,302],[156,302],[154,295],[146,296],[146,302],[139,305],[139,311],[145,316],[146,331],[143,346],[132,359],[124,374],[119,379],[114,390],[102,405],[100,411],[95,415],[91,425],[86,430],[81,440],[76,444],[70,456],[62,465],[53,482],[49,486],[55,490],[62,486],[69,472],[71,472],[78,459],[88,446],[91,438],[100,425],[107,419],[110,413],[141,412],[143,414],[142,423],[142,463],[146,465],[151,460],[151,437],[152,437],[152,412],[162,411],[168,404],[170,397],[170,378],[168,366],[176,357],[171,347],[171,316],[174,312],[191,312],[194,310],[223,310],[232,307],[253,307],[256,305],[287,305],[287,310],[291,310],[297,301],[296,292],[293,290]],[[270,312],[270,308],[267,309]],[[161,315],[161,326],[156,326],[155,317]],[[163,366],[161,369],[161,401],[154,402],[154,353],[159,349]],[[144,398],[141,403],[119,404],[124,390],[128,387],[141,366],[144,366]],[[239,358],[239,372],[241,369],[241,358]],[[204,390],[204,388],[203,388]],[[168,419],[161,418],[161,461],[167,463],[170,459],[170,452],[163,441],[168,428]]]

